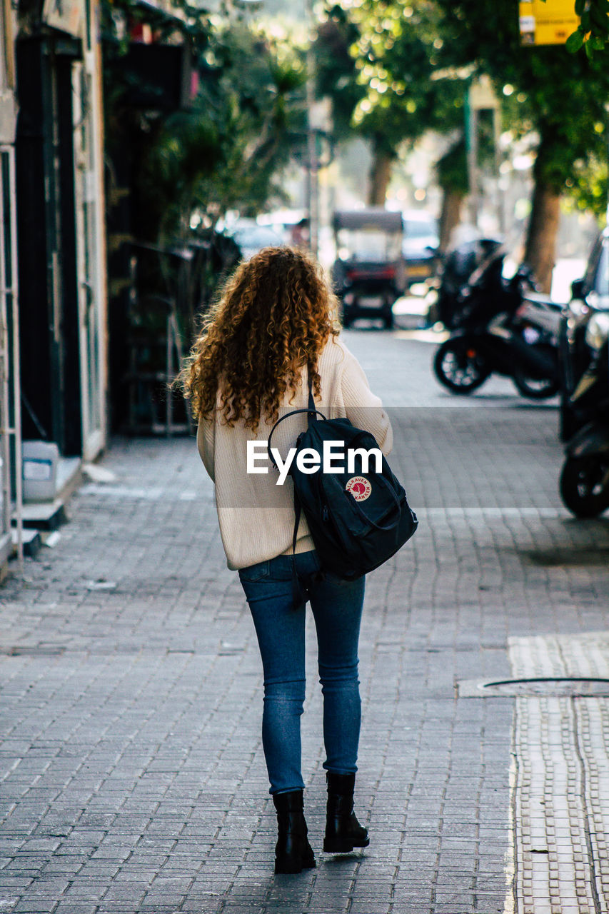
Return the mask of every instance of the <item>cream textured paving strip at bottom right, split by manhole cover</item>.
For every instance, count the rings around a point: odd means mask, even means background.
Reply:
[[[607,678],[609,632],[513,638],[509,657],[517,677]],[[518,697],[515,734],[515,885],[521,909],[606,912],[609,701]]]

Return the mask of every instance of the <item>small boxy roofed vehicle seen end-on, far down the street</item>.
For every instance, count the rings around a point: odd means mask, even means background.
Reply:
[[[332,281],[343,323],[379,317],[390,328],[393,303],[406,288],[401,213],[381,207],[337,210],[333,228],[337,260]]]

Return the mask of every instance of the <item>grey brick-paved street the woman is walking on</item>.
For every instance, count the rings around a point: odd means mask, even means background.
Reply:
[[[391,466],[420,518],[367,581],[356,811],[369,848],[321,852],[311,625],[317,866],[272,875],[262,667],[212,485],[192,439],[117,438],[101,461],[113,478],[85,480],[59,541],[0,590],[0,912],[609,909],[607,692],[564,687],[609,678],[609,516],[561,505],[555,401],[501,378],[450,395],[429,333],[345,339],[390,409]],[[472,686],[531,677],[554,685]]]

